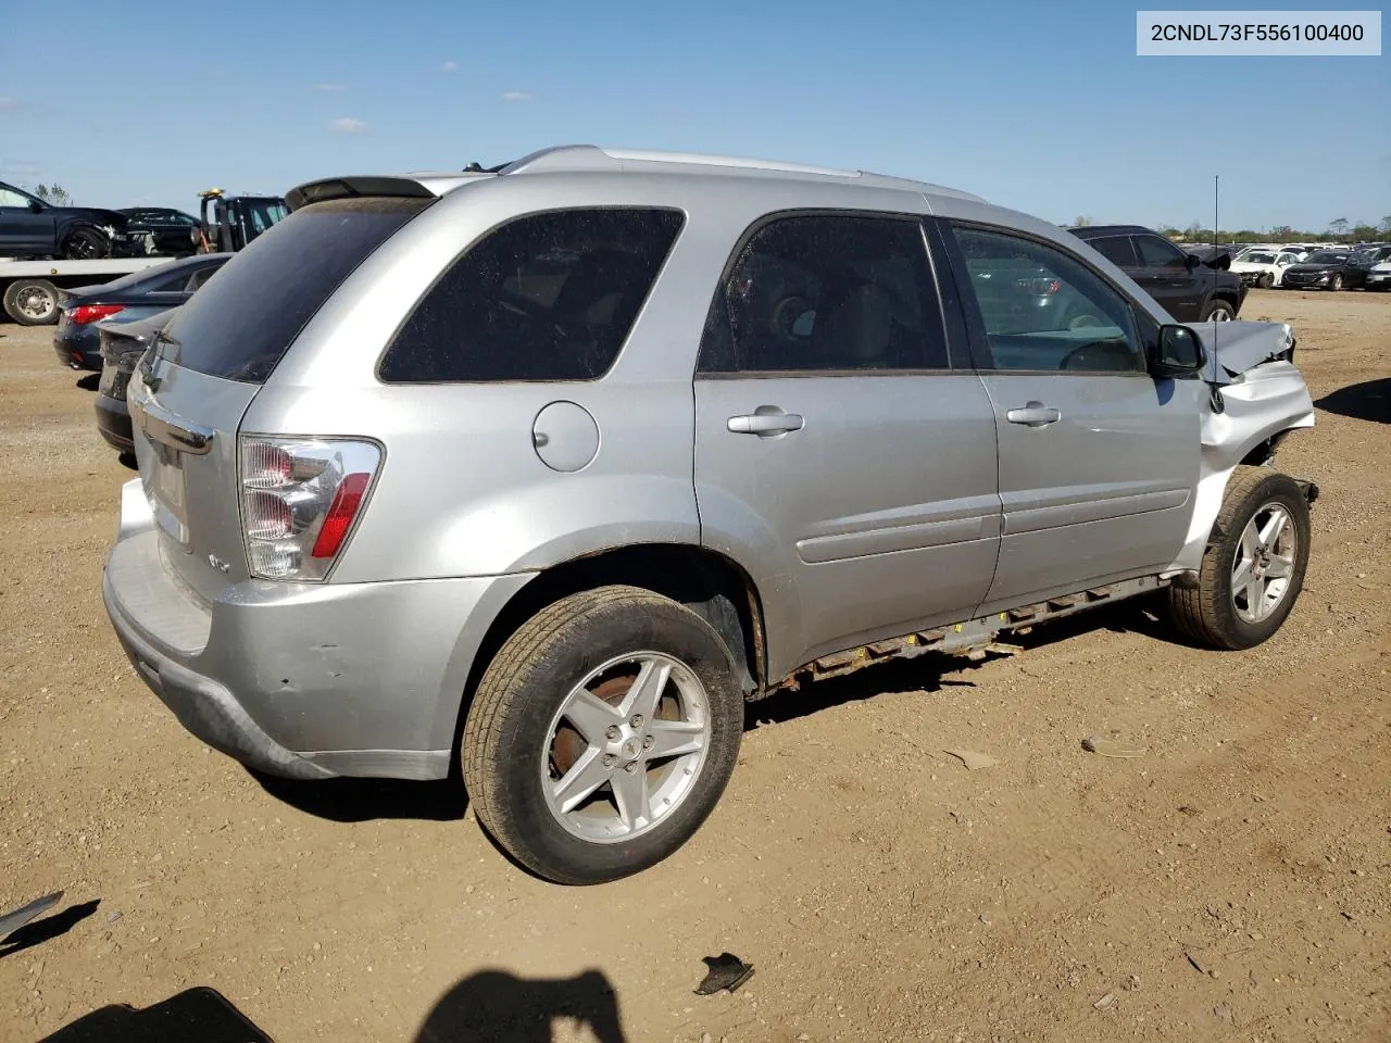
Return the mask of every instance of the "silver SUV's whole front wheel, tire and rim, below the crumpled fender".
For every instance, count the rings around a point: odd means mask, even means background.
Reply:
[[[1294,609],[1308,565],[1309,505],[1299,485],[1269,467],[1238,467],[1198,583],[1168,588],[1170,617],[1214,648],[1259,645]]]

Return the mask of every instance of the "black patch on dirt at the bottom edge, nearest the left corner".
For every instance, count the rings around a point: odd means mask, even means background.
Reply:
[[[153,1007],[111,1004],[39,1043],[274,1043],[216,989],[198,986]]]

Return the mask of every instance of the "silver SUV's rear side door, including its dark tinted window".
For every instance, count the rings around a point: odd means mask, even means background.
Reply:
[[[921,223],[757,224],[696,374],[701,540],[764,599],[771,676],[972,615],[995,572],[995,421],[950,369]]]

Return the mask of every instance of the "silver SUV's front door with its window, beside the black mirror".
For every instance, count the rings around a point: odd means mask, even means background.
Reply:
[[[1000,559],[983,613],[1155,573],[1184,545],[1198,483],[1192,387],[1148,373],[1157,323],[1071,250],[943,223],[999,439]],[[978,292],[972,270],[1036,266],[1056,307]],[[939,264],[939,268],[943,267]]]

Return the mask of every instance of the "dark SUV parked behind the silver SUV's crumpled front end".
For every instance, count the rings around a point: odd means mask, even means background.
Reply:
[[[1235,318],[1246,286],[1230,271],[1207,267],[1159,232],[1138,224],[1070,228],[1135,280],[1180,323]]]

